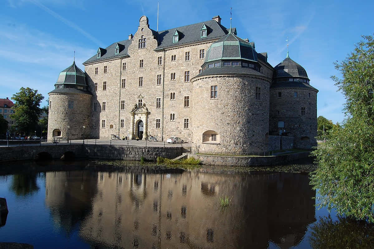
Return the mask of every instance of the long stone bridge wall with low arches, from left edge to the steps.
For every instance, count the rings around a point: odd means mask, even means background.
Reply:
[[[157,157],[176,158],[189,152],[189,147],[143,147],[119,145],[43,145],[0,147],[0,162],[59,159],[65,158],[100,158],[113,160],[156,161]]]

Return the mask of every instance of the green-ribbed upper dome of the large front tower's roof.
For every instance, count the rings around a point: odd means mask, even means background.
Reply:
[[[251,60],[257,61],[257,52],[251,43],[234,35],[231,31],[212,43],[206,51],[205,63],[217,60]]]

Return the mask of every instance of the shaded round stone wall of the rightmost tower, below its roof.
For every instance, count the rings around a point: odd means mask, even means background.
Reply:
[[[281,97],[278,97],[281,92]],[[297,97],[294,97],[297,92]],[[309,98],[310,93],[310,98]],[[301,107],[305,114],[301,115]],[[284,128],[278,128],[278,122]],[[294,148],[317,146],[317,91],[312,88],[270,88],[269,133],[278,135],[279,130],[294,137]]]

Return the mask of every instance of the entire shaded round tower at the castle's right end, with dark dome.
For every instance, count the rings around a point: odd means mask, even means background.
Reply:
[[[293,136],[294,148],[317,146],[317,92],[305,69],[287,57],[274,67],[270,87],[269,131]]]

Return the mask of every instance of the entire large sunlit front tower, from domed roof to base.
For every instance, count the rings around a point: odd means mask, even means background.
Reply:
[[[229,33],[212,43],[193,83],[193,141],[199,152],[268,151],[269,87],[251,43]]]

